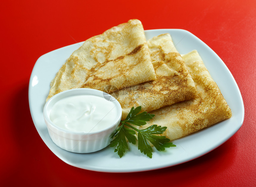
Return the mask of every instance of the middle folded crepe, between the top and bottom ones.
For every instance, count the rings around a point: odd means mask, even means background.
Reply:
[[[156,80],[113,92],[122,107],[122,120],[130,109],[141,106],[153,111],[180,101],[194,99],[196,87],[170,34],[161,34],[147,41],[156,73]]]

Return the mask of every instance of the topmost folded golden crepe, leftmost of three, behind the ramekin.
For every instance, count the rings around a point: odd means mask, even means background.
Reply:
[[[156,79],[143,26],[129,20],[86,40],[51,81],[46,101],[72,88],[113,92]]]

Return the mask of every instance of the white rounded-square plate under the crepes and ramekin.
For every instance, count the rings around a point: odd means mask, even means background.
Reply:
[[[170,33],[180,54],[194,49],[202,57],[213,80],[217,83],[232,111],[232,117],[205,128],[199,132],[172,141],[177,147],[164,152],[155,149],[152,159],[140,153],[129,144],[130,151],[122,158],[114,153],[113,147],[106,147],[95,153],[71,153],[55,145],[48,133],[43,118],[43,106],[50,89],[50,82],[73,51],[81,43],[69,45],[41,56],[33,68],[29,81],[29,108],[35,127],[49,149],[61,160],[75,167],[101,172],[138,172],[160,169],[181,164],[202,156],[227,141],[243,124],[244,107],[241,93],[224,62],[199,38],[182,29],[146,30],[146,39],[159,34]]]

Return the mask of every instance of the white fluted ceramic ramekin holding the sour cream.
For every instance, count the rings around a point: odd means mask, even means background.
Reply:
[[[115,106],[118,107],[118,114],[113,116],[114,120],[107,129],[89,132],[89,133],[78,133],[67,131],[59,126],[55,125],[50,120],[50,111],[52,106],[60,99],[63,99],[72,95],[94,95],[110,100],[115,103]],[[43,116],[45,123],[48,128],[49,135],[52,141],[59,147],[64,150],[71,151],[74,153],[91,153],[107,147],[111,141],[111,135],[114,133],[115,129],[120,123],[122,115],[122,109],[120,103],[113,98],[111,95],[90,88],[77,88],[69,89],[63,92],[60,92],[53,97],[51,97],[45,104],[43,108]]]

